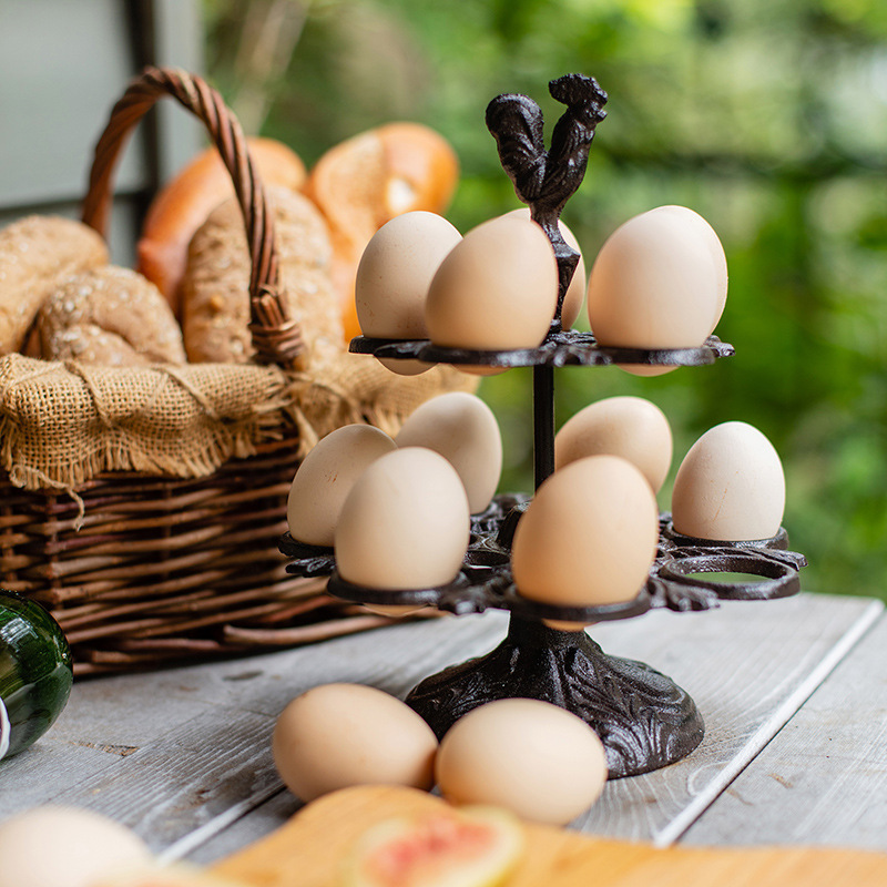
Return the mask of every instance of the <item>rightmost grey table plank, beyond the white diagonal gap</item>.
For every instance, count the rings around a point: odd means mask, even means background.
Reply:
[[[887,619],[687,833],[699,844],[879,848],[887,835]]]

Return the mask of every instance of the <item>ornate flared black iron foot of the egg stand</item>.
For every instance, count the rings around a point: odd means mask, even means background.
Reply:
[[[440,738],[472,708],[514,697],[550,702],[581,717],[603,742],[610,778],[673,764],[705,732],[695,703],[670,677],[606,655],[584,631],[513,615],[496,650],[426,679],[406,701]]]

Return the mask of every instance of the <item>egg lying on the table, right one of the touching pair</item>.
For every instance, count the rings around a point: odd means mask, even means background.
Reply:
[[[592,806],[606,757],[577,715],[539,700],[498,700],[460,717],[440,743],[435,775],[452,804],[503,807],[565,825]]]

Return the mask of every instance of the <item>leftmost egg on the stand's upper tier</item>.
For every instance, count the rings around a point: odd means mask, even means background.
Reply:
[[[425,339],[425,300],[440,263],[462,239],[443,216],[404,213],[383,225],[367,244],[355,278],[360,332],[385,339]],[[420,360],[384,359],[399,375],[430,369]]]

